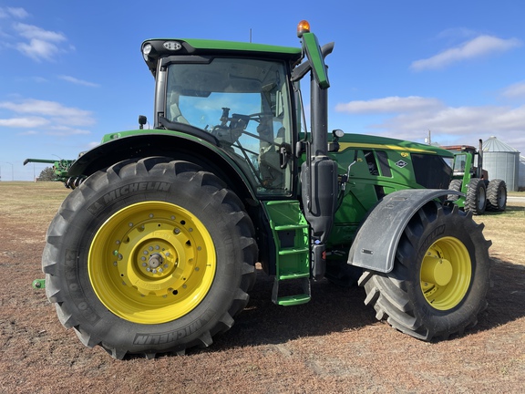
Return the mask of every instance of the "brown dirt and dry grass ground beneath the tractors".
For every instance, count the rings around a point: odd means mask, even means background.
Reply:
[[[477,218],[492,239],[489,308],[464,337],[425,343],[376,322],[360,288],[313,285],[313,301],[270,300],[262,273],[232,329],[187,356],[117,361],[58,322],[40,256],[67,190],[0,182],[0,392],[339,393],[523,392],[525,203]]]

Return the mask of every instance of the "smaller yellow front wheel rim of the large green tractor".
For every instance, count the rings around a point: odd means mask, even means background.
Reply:
[[[440,238],[428,248],[420,273],[428,304],[439,310],[457,306],[467,294],[471,277],[470,255],[457,238]]]

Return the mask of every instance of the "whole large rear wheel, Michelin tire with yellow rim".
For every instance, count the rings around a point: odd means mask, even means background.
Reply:
[[[211,345],[248,302],[257,245],[242,202],[187,161],[98,171],[47,231],[46,294],[61,323],[114,358]]]

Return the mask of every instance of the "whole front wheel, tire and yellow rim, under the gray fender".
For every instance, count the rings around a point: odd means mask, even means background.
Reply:
[[[407,224],[388,274],[359,280],[376,317],[422,340],[462,335],[487,306],[489,245],[471,214],[428,202]]]

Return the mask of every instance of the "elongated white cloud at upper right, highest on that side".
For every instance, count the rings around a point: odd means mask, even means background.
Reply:
[[[458,47],[444,50],[433,57],[416,60],[412,62],[410,68],[415,71],[443,68],[463,60],[505,52],[521,45],[522,42],[517,38],[503,39],[496,36],[477,36]]]

